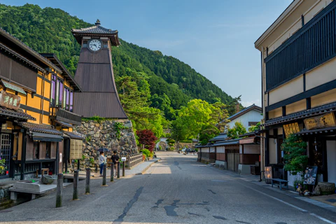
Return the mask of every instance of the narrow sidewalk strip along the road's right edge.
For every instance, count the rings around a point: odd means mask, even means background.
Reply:
[[[214,169],[217,169],[217,168],[214,167]],[[254,176],[254,175],[251,175],[251,174],[238,174],[238,173],[235,173],[235,172],[231,172],[229,170],[223,170],[223,172],[225,172],[225,174],[228,174],[230,176],[234,176],[236,178],[239,178],[243,181],[248,181],[250,183],[254,183],[255,185],[261,186],[263,188],[267,188],[269,190],[274,190],[277,193],[281,193],[283,195],[293,197],[297,200],[301,200],[301,201],[307,202],[309,204],[314,204],[317,207],[321,207],[323,209],[327,209],[328,211],[332,211],[332,212],[336,213],[336,207],[330,205],[331,203],[327,204],[327,203],[321,202],[323,200],[315,200],[314,199],[314,197],[322,197],[322,196],[304,197],[304,196],[300,196],[297,192],[295,192],[293,190],[285,190],[285,189],[280,190],[276,186],[272,188],[271,184],[267,184],[263,181],[260,182],[260,176]]]

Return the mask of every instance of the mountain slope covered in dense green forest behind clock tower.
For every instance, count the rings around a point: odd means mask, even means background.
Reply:
[[[71,29],[90,26],[92,24],[57,8],[41,8],[32,4],[0,4],[0,27],[38,52],[55,53],[73,74],[78,63],[80,45],[71,34]],[[113,47],[112,52],[115,76],[127,75],[130,71],[146,73],[151,85],[151,95],[166,97],[166,94],[173,109],[186,106],[190,99],[195,98],[209,103],[218,99],[225,104],[234,102],[232,97],[188,64],[162,55],[158,50],[141,48],[121,40],[120,47]]]

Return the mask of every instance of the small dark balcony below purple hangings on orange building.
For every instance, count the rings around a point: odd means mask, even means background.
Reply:
[[[76,113],[66,111],[59,107],[50,107],[50,118],[52,120],[59,120],[71,125],[80,125],[82,117]]]

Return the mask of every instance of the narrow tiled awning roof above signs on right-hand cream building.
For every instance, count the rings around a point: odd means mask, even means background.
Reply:
[[[280,118],[273,118],[273,119],[267,120],[265,124],[263,124],[262,126],[276,125],[279,123],[285,123],[285,122],[288,122],[291,120],[297,120],[300,118],[309,118],[312,116],[318,116],[323,113],[328,113],[332,111],[336,111],[336,102],[325,104],[323,106],[316,106],[313,109],[309,109],[306,111],[300,111],[297,113],[292,113],[288,116],[283,116]]]

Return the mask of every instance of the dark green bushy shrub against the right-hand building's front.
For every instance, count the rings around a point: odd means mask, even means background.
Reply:
[[[306,153],[307,143],[302,141],[301,137],[290,134],[281,144],[283,151],[283,162],[285,163],[285,170],[297,173],[304,172],[308,164],[308,157]]]

